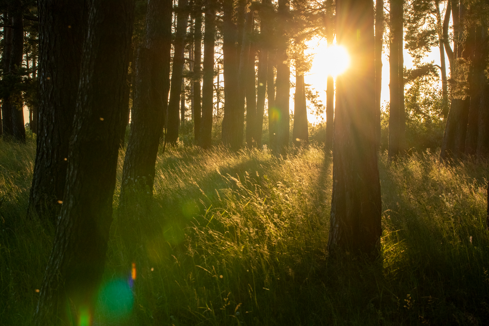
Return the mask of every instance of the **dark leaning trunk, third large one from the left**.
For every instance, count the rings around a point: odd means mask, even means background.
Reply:
[[[146,46],[140,47],[137,55],[133,121],[119,197],[119,215],[127,218],[147,216],[153,196],[156,155],[170,89],[171,13],[171,0],[148,1]]]

